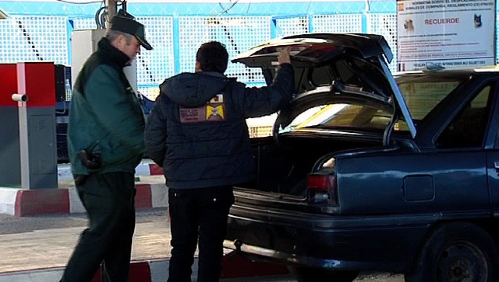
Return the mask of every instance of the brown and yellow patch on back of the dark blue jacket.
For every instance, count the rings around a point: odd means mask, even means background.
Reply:
[[[224,121],[227,115],[224,93],[215,95],[208,103],[200,107],[187,108],[181,106],[179,112],[181,123]]]

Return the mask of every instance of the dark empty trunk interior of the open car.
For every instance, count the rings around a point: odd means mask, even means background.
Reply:
[[[239,187],[304,197],[307,175],[322,156],[340,150],[381,145],[381,138],[378,142],[359,141],[287,135],[281,136],[277,145],[271,137],[252,139],[256,180]]]

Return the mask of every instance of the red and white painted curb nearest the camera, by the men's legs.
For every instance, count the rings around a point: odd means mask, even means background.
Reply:
[[[166,282],[169,265],[169,259],[132,261],[130,263],[128,282]],[[193,265],[193,281],[198,275],[197,265],[198,260],[196,259]],[[48,268],[0,273],[0,282],[54,282],[62,277],[63,271],[63,268]],[[222,260],[222,279],[285,274],[288,274],[288,272],[282,265],[252,262],[233,253],[224,256]],[[101,282],[100,271],[97,272],[92,282]]]

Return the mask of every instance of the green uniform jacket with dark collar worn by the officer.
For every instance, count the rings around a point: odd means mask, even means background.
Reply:
[[[75,175],[135,172],[144,154],[144,114],[123,73],[129,58],[108,39],[85,62],[69,106],[68,153]],[[100,155],[102,166],[89,170],[76,152]]]

